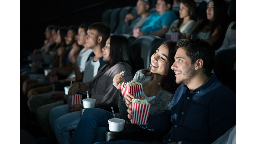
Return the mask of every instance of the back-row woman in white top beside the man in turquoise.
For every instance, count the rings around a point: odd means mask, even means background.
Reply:
[[[196,2],[194,0],[182,1],[179,13],[180,18],[171,24],[167,33],[178,32],[179,39],[186,39],[196,24]]]

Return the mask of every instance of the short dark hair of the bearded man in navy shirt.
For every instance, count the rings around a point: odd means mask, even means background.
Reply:
[[[211,77],[211,71],[215,63],[214,49],[212,46],[202,39],[188,39],[176,44],[176,50],[183,48],[186,55],[191,59],[193,64],[196,60],[202,59],[203,73]]]

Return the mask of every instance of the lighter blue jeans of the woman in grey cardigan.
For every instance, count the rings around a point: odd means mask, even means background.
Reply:
[[[53,108],[49,114],[49,123],[60,144],[70,144],[69,131],[76,128],[80,120],[80,111],[69,112],[68,105]]]

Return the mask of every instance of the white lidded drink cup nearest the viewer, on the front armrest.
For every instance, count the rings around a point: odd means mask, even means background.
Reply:
[[[110,132],[120,132],[124,129],[125,120],[123,119],[109,119],[108,125],[109,125],[109,131]]]

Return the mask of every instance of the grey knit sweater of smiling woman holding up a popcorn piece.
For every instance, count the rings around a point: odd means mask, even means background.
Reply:
[[[147,82],[149,82],[152,78],[153,78],[153,75],[145,76],[142,73],[142,70],[139,70],[138,72],[136,72],[136,74],[133,78],[133,81],[140,82],[142,85],[144,85]],[[171,101],[172,101],[173,95],[174,95],[173,93],[170,93],[161,88],[157,92],[156,97],[148,102],[151,104],[149,114],[154,115],[154,114],[163,113],[166,109],[168,109],[171,106]],[[120,112],[116,113],[116,115],[119,116],[120,118],[126,120],[126,123],[130,123],[129,119],[127,118],[127,115],[128,115],[127,109],[128,108],[125,105],[125,103],[123,102],[123,98],[120,95],[120,92],[119,92],[118,107],[119,107]]]

